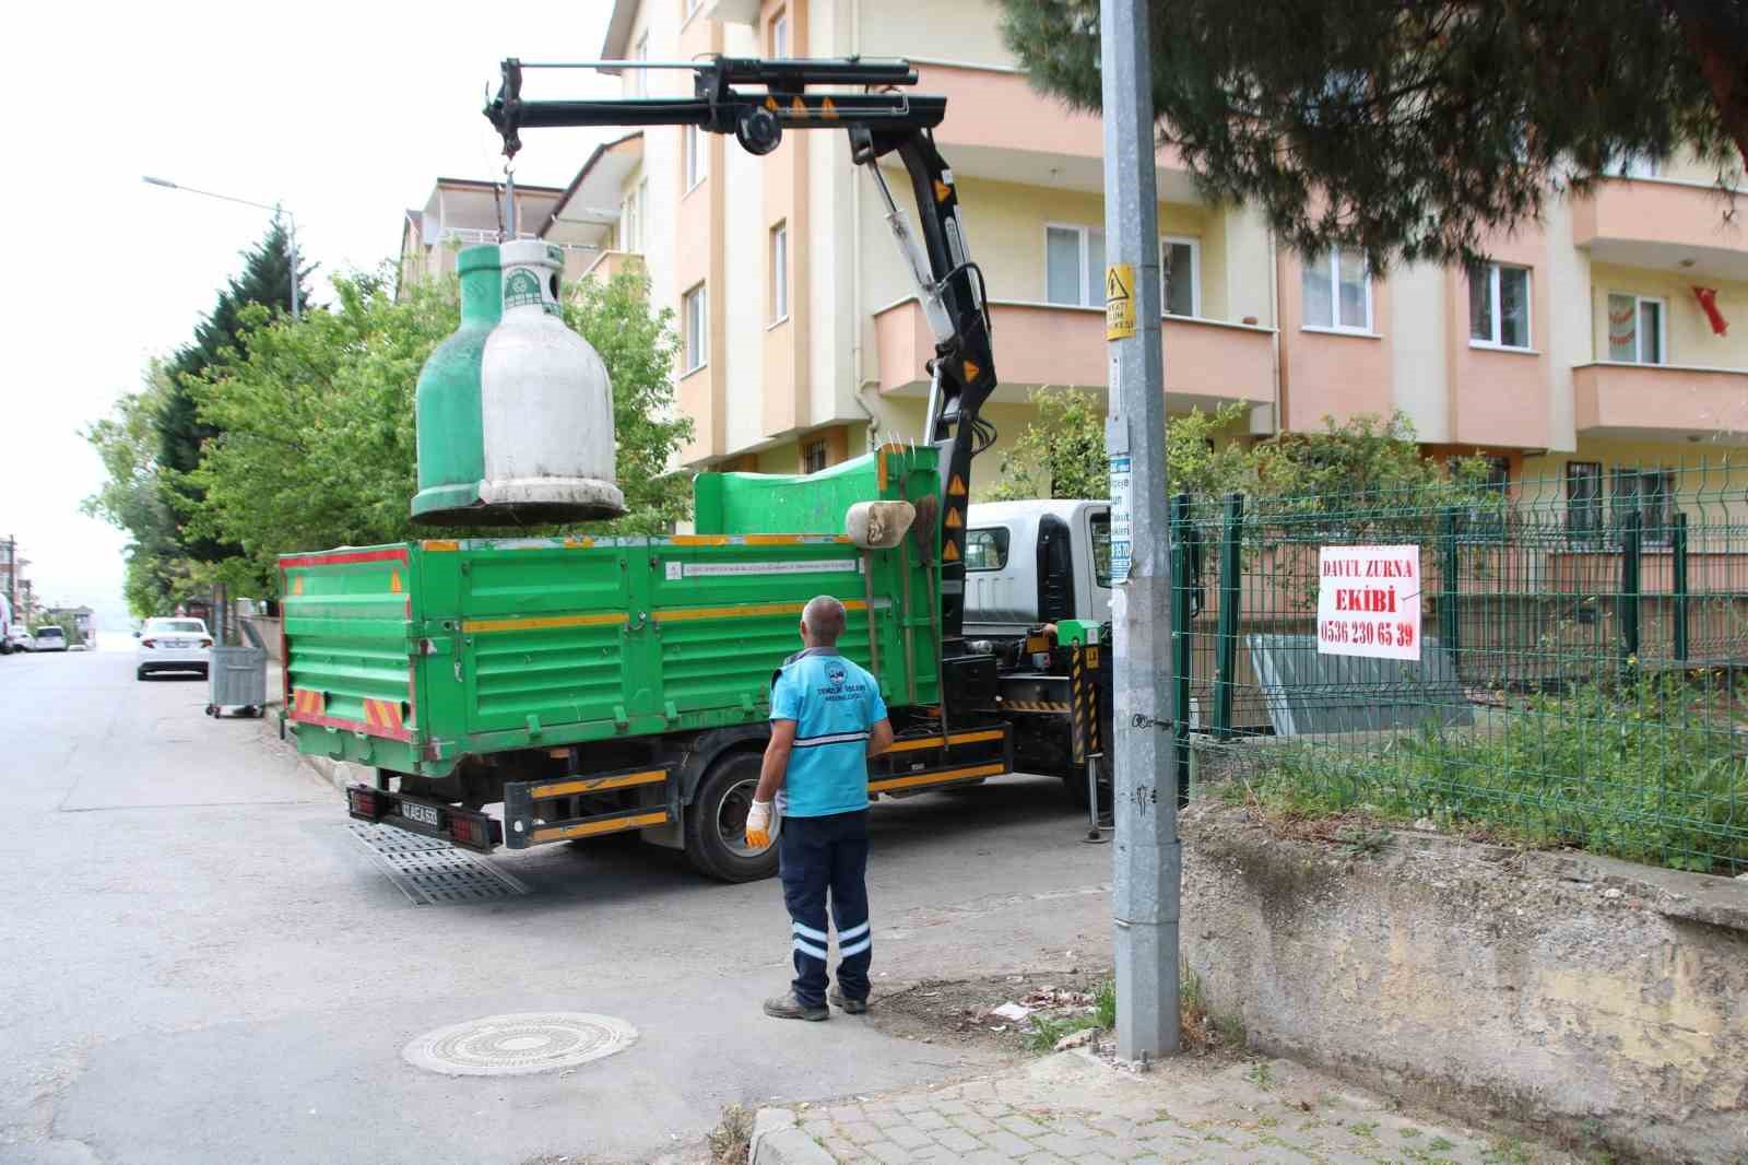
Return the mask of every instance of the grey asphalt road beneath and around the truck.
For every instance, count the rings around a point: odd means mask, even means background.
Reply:
[[[199,680],[128,652],[0,659],[0,1162],[645,1160],[724,1104],[981,1065],[864,1020],[767,1020],[788,978],[774,882],[718,885],[640,843],[491,859],[530,887],[414,906],[337,794]],[[881,980],[1105,962],[1108,847],[1058,784],[874,810]],[[512,1011],[633,1023],[565,1074],[437,1076],[409,1039]]]

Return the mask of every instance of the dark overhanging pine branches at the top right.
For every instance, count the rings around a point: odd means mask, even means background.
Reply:
[[[1098,0],[1002,5],[1033,84],[1099,108]],[[1161,138],[1301,254],[1472,259],[1615,161],[1685,145],[1722,182],[1748,159],[1741,0],[1150,0],[1150,17]]]

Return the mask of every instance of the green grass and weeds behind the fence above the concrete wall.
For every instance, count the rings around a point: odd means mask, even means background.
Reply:
[[[1502,696],[1479,728],[1428,726],[1369,749],[1273,745],[1222,794],[1276,819],[1334,822],[1320,836],[1356,857],[1388,845],[1370,822],[1430,819],[1444,833],[1739,873],[1748,756],[1718,698],[1673,675]]]

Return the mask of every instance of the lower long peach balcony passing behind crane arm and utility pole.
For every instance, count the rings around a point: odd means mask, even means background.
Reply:
[[[998,401],[1024,401],[1031,388],[1084,388],[1105,394],[1108,345],[1103,308],[991,301]],[[874,313],[881,392],[928,390],[923,364],[935,339],[914,297]],[[1218,408],[1231,401],[1274,399],[1274,331],[1218,320],[1164,320],[1166,406]]]

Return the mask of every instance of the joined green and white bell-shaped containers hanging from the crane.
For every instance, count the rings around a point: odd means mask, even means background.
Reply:
[[[565,254],[538,240],[461,252],[461,325],[420,371],[414,521],[528,525],[617,518],[614,390],[565,327]]]

